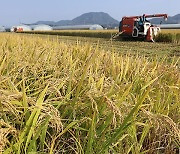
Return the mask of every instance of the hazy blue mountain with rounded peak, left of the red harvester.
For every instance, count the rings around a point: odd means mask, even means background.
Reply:
[[[51,26],[67,26],[67,25],[88,25],[88,24],[99,24],[103,27],[116,27],[119,22],[112,18],[109,14],[104,12],[89,12],[82,14],[72,20],[60,20],[54,21],[38,21],[34,24],[47,24]]]

